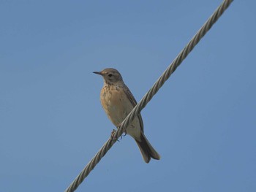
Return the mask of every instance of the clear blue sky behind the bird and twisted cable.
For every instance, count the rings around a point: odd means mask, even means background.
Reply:
[[[110,137],[107,67],[140,101],[222,1],[0,0],[0,191],[64,191]],[[77,191],[256,191],[256,2],[234,1]]]

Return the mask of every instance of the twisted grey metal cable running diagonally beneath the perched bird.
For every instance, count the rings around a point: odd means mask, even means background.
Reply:
[[[124,119],[124,121],[121,123],[121,125],[118,127],[118,130],[114,134],[113,138],[118,138],[123,134],[124,130],[129,126],[129,123],[132,122],[132,120],[140,113],[141,110],[143,110],[144,107],[146,107],[146,104],[153,98],[153,96],[157,93],[159,88],[162,87],[162,85],[165,83],[165,81],[170,77],[170,74],[172,74],[177,67],[181,64],[181,62],[189,55],[189,53],[192,51],[192,49],[197,45],[197,43],[200,41],[200,39],[203,38],[203,36],[207,33],[207,31],[211,28],[211,26],[214,25],[214,23],[219,19],[219,17],[222,15],[222,13],[229,7],[229,5],[232,3],[233,0],[225,0],[222,1],[222,4],[219,5],[217,10],[214,12],[213,15],[211,15],[210,18],[206,21],[206,23],[200,28],[199,31],[197,31],[197,34],[195,34],[194,37],[190,40],[190,42],[187,44],[186,47],[181,51],[181,53],[178,54],[178,56],[173,60],[172,64],[167,67],[165,72],[159,77],[157,82],[154,83],[152,88],[146,93],[145,96],[143,96],[143,99],[140,100],[140,102],[133,108],[132,112],[127,115],[127,118]],[[92,169],[99,163],[101,158],[110,150],[110,147],[113,146],[113,144],[116,142],[116,139],[111,139],[111,137],[108,139],[107,142],[101,147],[101,149],[98,151],[96,155],[94,155],[94,158],[89,161],[89,163],[86,165],[86,167],[83,169],[82,172],[78,175],[78,177],[75,178],[75,180],[69,185],[66,192],[75,191],[75,189],[78,188],[80,183],[83,182],[83,180],[89,175]]]

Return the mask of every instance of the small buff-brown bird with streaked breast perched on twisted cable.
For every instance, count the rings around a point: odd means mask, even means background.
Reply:
[[[104,85],[100,92],[100,101],[110,121],[118,128],[129,112],[137,104],[135,97],[118,70],[113,68],[103,69],[101,72],[94,72],[103,77]],[[143,160],[148,164],[151,158],[160,159],[157,150],[152,147],[146,138],[143,130],[143,120],[140,114],[129,124],[126,134],[130,135],[137,143]]]

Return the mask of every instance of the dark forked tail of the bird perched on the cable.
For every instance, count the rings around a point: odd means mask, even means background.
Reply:
[[[143,156],[144,161],[148,164],[151,158],[160,159],[160,155],[157,153],[156,150],[154,150],[154,147],[148,142],[148,139],[146,136],[141,132],[140,134],[140,141],[138,139],[135,139],[137,142],[137,145],[140,148],[140,153]]]

